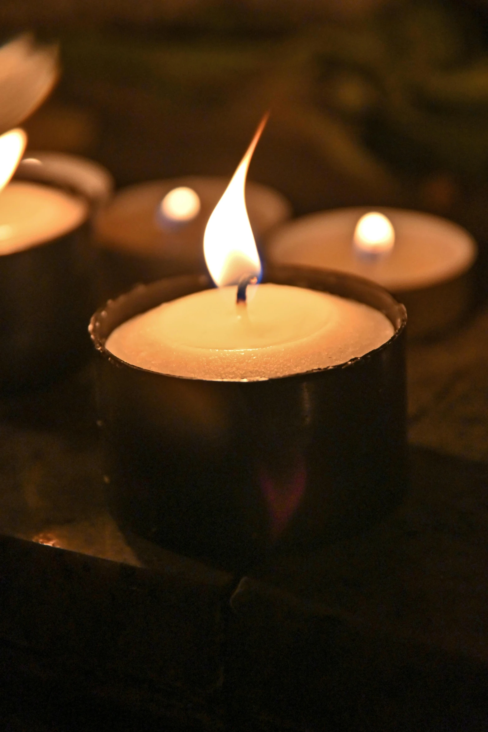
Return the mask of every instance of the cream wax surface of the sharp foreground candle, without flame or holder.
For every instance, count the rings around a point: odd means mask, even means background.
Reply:
[[[329,293],[265,284],[205,290],[166,302],[108,337],[108,351],[141,368],[209,381],[255,381],[335,366],[393,335],[379,310]]]

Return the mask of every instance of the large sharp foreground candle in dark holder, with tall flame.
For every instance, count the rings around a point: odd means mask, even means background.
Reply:
[[[217,288],[161,280],[91,321],[109,500],[129,542],[234,569],[350,533],[403,482],[402,306],[334,273],[257,284],[244,184],[265,123],[206,227]]]

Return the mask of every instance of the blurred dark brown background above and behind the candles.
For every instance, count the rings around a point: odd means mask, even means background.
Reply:
[[[119,185],[230,175],[271,108],[250,177],[297,213],[410,206],[488,239],[485,0],[3,0],[0,27],[60,44],[31,149]]]

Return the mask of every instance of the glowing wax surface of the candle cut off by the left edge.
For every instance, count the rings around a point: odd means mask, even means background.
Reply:
[[[37,183],[10,182],[0,193],[0,255],[67,234],[87,215],[82,198]]]

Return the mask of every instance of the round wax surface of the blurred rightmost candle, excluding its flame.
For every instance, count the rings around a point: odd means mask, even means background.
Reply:
[[[282,225],[269,237],[269,260],[337,269],[401,292],[454,280],[476,259],[475,242],[457,224],[431,214],[388,208],[374,210],[394,226],[393,250],[376,261],[361,258],[353,247],[353,234],[368,210],[372,209],[337,209]]]

